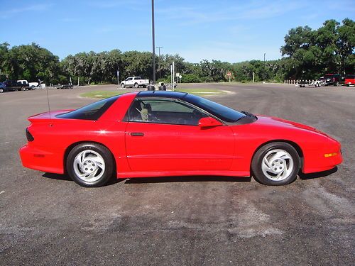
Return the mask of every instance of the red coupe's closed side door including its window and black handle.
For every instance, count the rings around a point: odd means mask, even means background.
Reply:
[[[173,99],[136,99],[126,119],[132,171],[229,170],[234,135],[229,126],[202,129],[207,114]]]

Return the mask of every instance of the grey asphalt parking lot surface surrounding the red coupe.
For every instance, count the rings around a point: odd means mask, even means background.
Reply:
[[[87,189],[21,166],[26,118],[48,110],[45,90],[0,94],[0,265],[354,265],[355,89],[191,86],[228,90],[210,99],[329,133],[343,164],[285,187],[170,177]],[[95,100],[79,95],[99,89],[116,86],[50,89],[50,107],[88,104]]]

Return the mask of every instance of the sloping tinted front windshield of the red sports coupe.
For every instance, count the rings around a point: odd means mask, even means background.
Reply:
[[[187,94],[183,97],[183,100],[189,102],[190,104],[194,104],[195,106],[198,106],[201,109],[204,109],[205,111],[211,113],[212,115],[227,123],[236,122],[240,118],[246,116],[244,115],[244,113],[235,111],[234,109],[223,106],[222,104],[217,104],[214,101],[209,101],[207,99],[192,94]]]

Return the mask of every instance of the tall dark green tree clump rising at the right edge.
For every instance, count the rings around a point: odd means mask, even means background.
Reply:
[[[325,21],[315,31],[308,26],[291,29],[280,49],[288,59],[283,65],[286,77],[314,79],[329,72],[353,72],[354,36],[354,21],[349,18],[342,25],[335,20]]]

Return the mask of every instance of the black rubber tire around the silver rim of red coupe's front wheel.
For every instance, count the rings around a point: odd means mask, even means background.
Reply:
[[[288,155],[290,155],[290,157],[293,160],[293,166],[290,167],[289,174],[287,175],[287,177],[285,177],[285,179],[280,179],[280,180],[272,179],[268,177],[266,174],[264,174],[262,170],[264,157],[266,157],[268,153],[272,154],[274,150],[283,150],[284,152],[288,153]],[[290,159],[284,160],[283,162],[275,162],[275,163],[283,163],[283,165],[290,166]],[[282,165],[278,165],[278,166],[282,166]],[[288,143],[275,142],[275,143],[268,143],[266,145],[263,145],[261,148],[259,148],[256,151],[255,155],[253,156],[253,160],[251,162],[251,172],[253,174],[253,177],[256,179],[256,181],[260,182],[261,184],[267,184],[271,186],[282,186],[294,182],[295,179],[297,178],[297,174],[299,170],[300,170],[300,156],[298,155],[297,150],[295,150],[295,148],[293,148],[293,146]],[[268,175],[270,176],[271,174]]]

